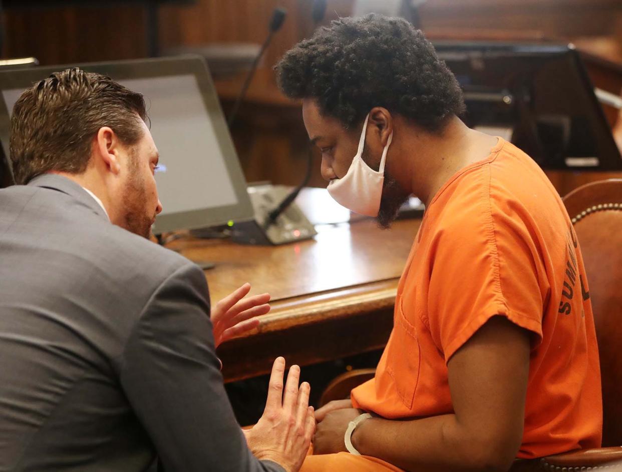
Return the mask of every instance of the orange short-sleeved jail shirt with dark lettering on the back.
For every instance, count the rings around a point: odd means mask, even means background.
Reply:
[[[389,419],[452,413],[447,362],[495,315],[533,335],[518,457],[599,447],[600,367],[577,238],[544,172],[503,139],[430,202],[388,345],[353,404]]]

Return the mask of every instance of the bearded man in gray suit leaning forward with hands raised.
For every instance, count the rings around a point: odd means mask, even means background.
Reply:
[[[203,272],[145,238],[162,209],[145,119],[140,94],[78,69],[15,105],[26,185],[0,191],[0,471],[144,471],[156,454],[167,472],[296,471],[315,428],[300,369],[284,386],[276,359],[243,433],[215,354],[269,295],[244,285],[210,322]]]

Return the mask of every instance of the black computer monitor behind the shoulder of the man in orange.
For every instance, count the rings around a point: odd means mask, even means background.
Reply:
[[[544,169],[621,170],[620,151],[572,45],[434,42],[463,88],[465,122]]]

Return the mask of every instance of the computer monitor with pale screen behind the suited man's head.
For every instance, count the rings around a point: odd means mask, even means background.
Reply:
[[[68,66],[0,71],[0,141],[9,155],[9,124],[22,91]],[[157,188],[164,210],[154,233],[253,220],[246,180],[202,57],[82,64],[142,93],[160,152]],[[62,119],[62,117],[59,117]]]

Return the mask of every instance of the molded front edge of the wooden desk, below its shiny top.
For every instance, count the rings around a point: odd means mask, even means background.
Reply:
[[[393,325],[398,281],[277,300],[257,331],[218,348],[225,381],[267,374],[284,354],[289,365],[305,366],[383,348]]]

